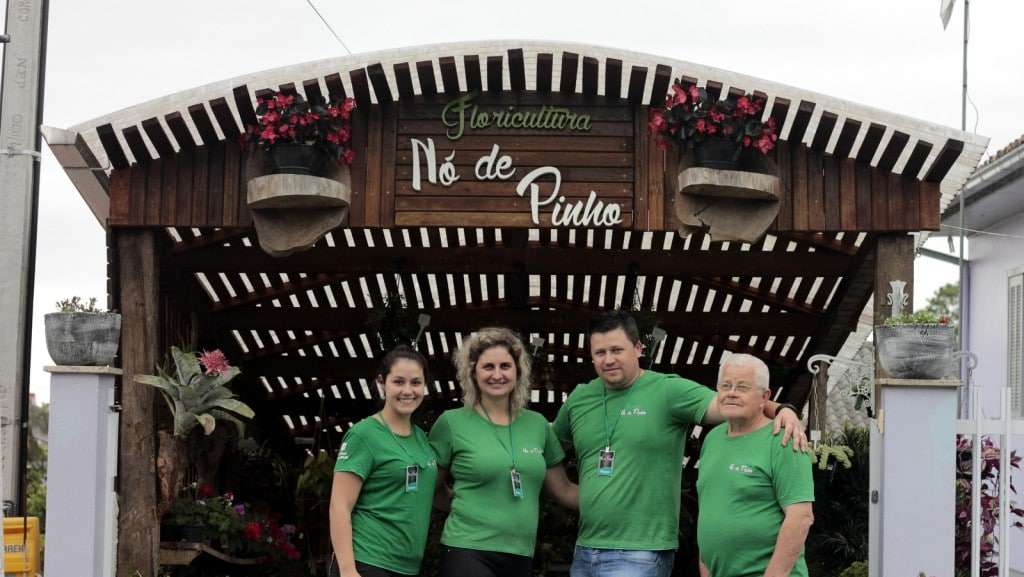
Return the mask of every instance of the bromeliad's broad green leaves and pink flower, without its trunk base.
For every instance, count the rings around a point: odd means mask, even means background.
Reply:
[[[229,421],[244,434],[241,419],[251,419],[255,413],[227,387],[239,374],[220,351],[197,355],[172,346],[168,369],[157,367],[156,375],[138,375],[135,380],[160,389],[174,417],[174,436],[186,439],[197,424],[206,435],[212,434],[217,420]]]

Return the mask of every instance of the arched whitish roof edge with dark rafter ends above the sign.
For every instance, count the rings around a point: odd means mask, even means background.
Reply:
[[[752,76],[617,48],[547,41],[433,44],[303,63],[168,94],[71,127],[47,141],[99,216],[105,178],[136,156],[176,152],[182,138],[210,143],[254,122],[255,90],[299,86],[362,104],[467,89],[560,91],[659,101],[675,78],[756,91],[765,113],[784,112],[781,137],[897,174],[941,182],[944,209],[977,166],[988,138]],[[92,191],[91,193],[87,192]],[[90,194],[92,197],[90,199]],[[97,204],[99,206],[97,206]],[[97,212],[97,208],[99,211]]]

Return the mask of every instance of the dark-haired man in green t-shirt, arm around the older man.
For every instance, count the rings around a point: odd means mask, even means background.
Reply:
[[[683,445],[695,424],[722,422],[715,393],[677,375],[640,368],[643,345],[627,313],[591,323],[598,378],[575,387],[554,422],[575,448],[580,468],[580,534],[572,577],[663,577],[679,546]],[[773,434],[807,439],[796,410],[765,403]],[[791,407],[792,409],[792,407]],[[718,577],[718,576],[715,576]]]

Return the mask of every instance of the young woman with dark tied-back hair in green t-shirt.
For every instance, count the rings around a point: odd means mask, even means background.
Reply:
[[[383,408],[342,440],[331,489],[332,561],[341,577],[420,572],[437,479],[427,437],[412,422],[423,403],[426,367],[408,346],[388,353],[377,371]]]

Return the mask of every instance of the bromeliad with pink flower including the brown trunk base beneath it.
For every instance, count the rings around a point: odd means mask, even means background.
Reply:
[[[202,452],[199,443],[213,435],[218,420],[233,423],[242,436],[245,432],[242,419],[255,415],[252,408],[236,399],[227,386],[240,373],[219,349],[196,354],[172,346],[167,368],[158,366],[156,375],[135,376],[135,382],[160,390],[173,420],[170,435],[161,431],[159,436],[160,492],[165,503],[179,493],[188,466],[196,467],[201,483],[212,482],[215,478],[227,439],[220,436]],[[193,435],[196,425],[205,437],[197,439]]]

